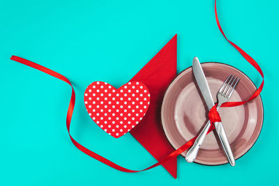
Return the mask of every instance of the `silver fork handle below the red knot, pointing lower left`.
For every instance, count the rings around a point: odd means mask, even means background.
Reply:
[[[199,136],[195,140],[195,143],[193,146],[188,150],[185,156],[185,160],[189,163],[194,162],[197,157],[197,152],[199,151],[199,147],[202,145],[202,142],[204,142],[204,139],[206,137],[207,132],[209,131],[210,127],[210,121],[206,123],[204,128],[202,129],[202,132],[199,133]]]

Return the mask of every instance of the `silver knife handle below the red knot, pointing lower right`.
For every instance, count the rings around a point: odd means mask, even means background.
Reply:
[[[227,160],[229,160],[229,164],[232,166],[235,166],[235,160],[234,155],[232,154],[232,149],[229,146],[229,141],[227,140],[227,135],[224,130],[224,127],[221,122],[214,123],[216,132],[218,134],[218,137],[221,141],[222,147],[224,149],[225,155],[227,156]]]

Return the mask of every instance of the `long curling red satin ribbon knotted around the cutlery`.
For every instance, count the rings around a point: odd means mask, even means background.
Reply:
[[[227,39],[227,37],[225,36],[225,33],[223,32],[223,29],[220,26],[220,22],[218,20],[218,15],[217,15],[217,10],[216,10],[216,1],[215,1],[215,15],[216,15],[216,22],[218,25],[218,28],[220,30],[220,32],[223,34],[223,36],[226,38],[226,40],[233,46],[235,47],[239,53],[255,68],[257,69],[257,71],[259,72],[260,75],[262,75],[262,84],[259,86],[259,88],[257,89],[257,91],[255,91],[255,93],[246,101],[241,101],[241,102],[226,102],[225,104],[222,104],[221,107],[235,107],[235,106],[239,106],[241,104],[245,104],[246,102],[256,98],[259,93],[261,93],[262,88],[264,86],[264,74],[261,70],[261,68],[259,68],[259,65],[257,64],[257,62],[252,59],[251,56],[249,56],[246,52],[243,51],[243,49],[241,49],[239,46],[237,46],[236,44],[234,44],[234,42],[230,41],[229,39]],[[63,75],[54,72],[53,70],[50,70],[49,68],[45,68],[42,65],[38,65],[37,63],[33,63],[31,61],[28,61],[26,59],[22,59],[18,56],[12,56],[10,58],[13,61],[17,61],[19,63],[22,63],[24,65],[28,65],[32,68],[36,68],[37,70],[40,70],[42,72],[47,73],[48,75],[51,75],[53,77],[56,77],[58,79],[61,79],[63,82],[66,82],[67,84],[69,84],[72,88],[72,95],[70,98],[70,104],[68,107],[68,112],[67,112],[67,118],[66,118],[66,125],[67,125],[67,130],[68,130],[68,134],[70,136],[70,140],[73,142],[73,144],[80,149],[83,153],[86,153],[86,155],[89,155],[93,158],[95,158],[96,160],[103,162],[104,164],[107,164],[108,166],[111,166],[114,169],[117,169],[119,171],[124,171],[124,172],[138,172],[138,171],[133,171],[130,169],[126,169],[122,166],[119,166],[118,164],[115,164],[114,162],[111,162],[110,160],[107,160],[105,157],[102,157],[96,153],[94,153],[93,151],[89,150],[88,148],[85,148],[84,146],[82,146],[81,144],[79,144],[77,141],[75,141],[75,139],[73,139],[73,137],[70,135],[70,121],[71,118],[73,116],[73,110],[75,107],[75,90],[73,88],[73,85],[70,83],[70,81],[64,77]],[[220,116],[218,114],[218,111],[216,111],[216,106],[213,107],[211,109],[211,111],[209,111],[209,119],[212,122],[216,122],[216,121],[220,121]],[[213,125],[211,125],[211,128],[209,129],[209,132],[211,132],[214,129]],[[208,133],[209,133],[208,132]],[[146,171],[148,169],[152,169],[153,167],[159,166],[160,164],[163,164],[164,162],[167,162],[167,160],[170,160],[178,155],[180,155],[181,153],[183,153],[185,150],[187,150],[188,148],[190,148],[190,146],[192,146],[195,142],[195,139],[197,137],[194,137],[193,139],[190,139],[190,141],[188,141],[186,144],[184,144],[183,146],[181,146],[180,148],[178,148],[177,150],[174,150],[173,153],[170,153],[169,155],[167,155],[166,157],[164,157],[162,160],[160,160],[159,162],[157,162],[156,164],[153,164],[149,167],[147,167],[146,169],[143,169],[141,171]]]

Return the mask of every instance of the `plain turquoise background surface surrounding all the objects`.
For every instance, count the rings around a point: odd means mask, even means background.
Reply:
[[[208,1],[0,1],[0,185],[278,185],[279,1],[218,1],[227,37],[262,67],[264,127],[236,166],[178,158],[178,179],[159,166],[123,173],[77,150],[66,130],[70,87],[15,61],[17,55],[65,75],[77,94],[72,134],[129,169],[156,160],[130,134],[114,139],[86,113],[83,93],[102,80],[125,84],[178,34],[178,71],[193,56],[257,71],[223,38]]]

